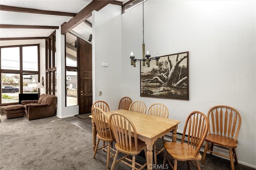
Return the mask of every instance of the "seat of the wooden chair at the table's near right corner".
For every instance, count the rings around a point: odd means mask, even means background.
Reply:
[[[164,147],[167,152],[176,160],[201,160],[202,155],[198,153],[197,156],[194,156],[196,152],[196,147],[192,147],[187,143],[174,143],[166,142]]]

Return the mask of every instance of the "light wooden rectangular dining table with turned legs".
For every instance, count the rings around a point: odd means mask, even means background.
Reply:
[[[112,113],[119,113],[124,115],[134,124],[138,139],[145,142],[147,145],[147,169],[153,168],[153,145],[154,142],[172,131],[172,142],[176,142],[177,129],[180,121],[174,119],[168,119],[163,117],[157,117],[153,115],[147,115],[143,113],[138,113],[135,111],[129,111],[124,109],[118,109],[106,112],[106,117],[109,119]],[[96,147],[96,125],[93,121],[92,115],[92,148]]]

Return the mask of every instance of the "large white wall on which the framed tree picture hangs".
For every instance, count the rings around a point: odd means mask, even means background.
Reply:
[[[142,4],[122,14],[122,95],[168,106],[169,118],[181,121],[194,110],[207,114],[228,105],[242,116],[238,161],[256,168],[256,16],[255,1],[148,0],[144,4],[146,50],[152,55],[189,51],[190,100],[140,97]],[[137,64],[138,65],[138,64]]]

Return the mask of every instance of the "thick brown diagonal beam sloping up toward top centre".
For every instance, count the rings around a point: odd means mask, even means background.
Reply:
[[[84,9],[82,9],[76,16],[71,18],[68,22],[63,23],[61,25],[61,34],[65,34],[84,20],[92,16],[92,11],[100,10],[104,8],[104,6],[110,4],[112,0],[93,0],[90,4],[88,4]]]

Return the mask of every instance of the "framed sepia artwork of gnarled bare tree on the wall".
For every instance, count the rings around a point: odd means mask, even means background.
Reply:
[[[160,56],[158,65],[140,63],[140,96],[189,100],[188,51]]]

